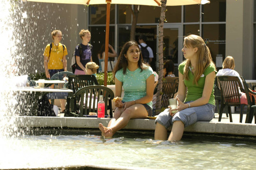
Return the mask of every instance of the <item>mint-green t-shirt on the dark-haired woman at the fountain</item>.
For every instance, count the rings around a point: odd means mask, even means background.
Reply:
[[[137,68],[135,71],[126,69],[126,74],[123,74],[123,68],[116,72],[115,77],[123,83],[123,102],[138,100],[146,95],[146,79],[154,74],[153,69],[148,68],[142,70]],[[154,86],[154,84],[152,85]],[[152,102],[147,103],[152,108]]]

